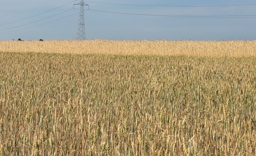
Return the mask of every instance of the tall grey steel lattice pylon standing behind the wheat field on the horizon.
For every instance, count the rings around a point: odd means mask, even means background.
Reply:
[[[85,39],[85,18],[84,18],[84,6],[89,6],[88,4],[85,4],[83,0],[81,0],[80,3],[74,4],[74,5],[80,5],[80,13],[79,13],[79,20],[78,20],[78,29],[77,29],[77,38],[78,40]]]

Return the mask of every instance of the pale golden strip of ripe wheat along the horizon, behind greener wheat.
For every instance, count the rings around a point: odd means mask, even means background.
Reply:
[[[0,51],[250,57],[256,55],[256,41],[0,41]]]

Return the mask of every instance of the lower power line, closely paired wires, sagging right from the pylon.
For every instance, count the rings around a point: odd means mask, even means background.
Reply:
[[[190,16],[190,15],[160,15],[160,14],[134,14],[125,12],[114,12],[104,10],[88,9],[89,11],[114,13],[114,14],[128,14],[128,15],[142,15],[142,16],[161,16],[161,17],[180,17],[180,18],[256,18],[256,15],[220,15],[220,16]]]

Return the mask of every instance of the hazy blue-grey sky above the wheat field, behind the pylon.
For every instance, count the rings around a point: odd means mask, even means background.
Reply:
[[[89,0],[85,11],[86,39],[111,40],[255,40],[255,0]],[[1,0],[0,40],[76,39],[80,0]],[[153,7],[92,2],[208,7]],[[64,5],[67,4],[68,5]],[[255,5],[241,5],[255,4]],[[64,6],[62,6],[64,5]],[[209,5],[228,5],[209,7]],[[231,6],[230,6],[231,5]],[[238,6],[239,5],[239,6]],[[59,7],[62,6],[62,7]],[[57,8],[59,7],[59,8]],[[57,8],[57,9],[55,9]],[[51,9],[54,9],[50,11]],[[69,10],[71,9],[71,10]],[[87,9],[87,7],[85,7]],[[69,10],[69,11],[68,11]],[[96,12],[103,10],[129,14]],[[47,11],[47,12],[46,12]],[[66,12],[64,12],[66,11]],[[45,13],[43,13],[45,12]],[[64,12],[64,13],[62,13]],[[43,14],[41,14],[43,13]],[[60,14],[61,13],[61,14]],[[40,14],[40,15],[38,15]],[[75,14],[75,15],[72,15]],[[154,14],[190,17],[142,16]],[[38,16],[35,16],[38,15]],[[72,16],[70,16],[72,15]],[[250,15],[250,16],[240,16]],[[254,16],[252,16],[254,15]],[[34,16],[34,17],[31,17]],[[64,18],[69,16],[67,18]],[[200,16],[200,18],[198,18]],[[201,18],[202,16],[206,18]],[[212,18],[212,17],[221,18]],[[31,18],[28,18],[31,17]],[[222,18],[229,17],[229,18]],[[232,18],[230,18],[232,17]],[[240,18],[233,18],[240,17]],[[242,18],[241,18],[242,17]],[[245,18],[246,17],[246,18]],[[248,18],[249,17],[249,18]],[[27,18],[27,19],[24,19]],[[60,19],[63,18],[63,19]],[[24,19],[24,20],[21,20]],[[58,20],[60,19],[60,20]],[[21,20],[21,21],[19,21]],[[58,21],[55,21],[58,20]],[[17,22],[14,22],[17,21]],[[55,22],[51,22],[55,21]],[[14,23],[12,23],[14,22]],[[51,23],[49,23],[51,22]],[[9,24],[6,24],[9,23]],[[44,24],[47,23],[47,24]],[[43,24],[43,25],[41,25]],[[39,25],[39,26],[36,26]],[[18,31],[16,31],[18,30]]]

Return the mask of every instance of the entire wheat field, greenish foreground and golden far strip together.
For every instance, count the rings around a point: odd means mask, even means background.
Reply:
[[[0,155],[256,155],[256,41],[0,41]]]

